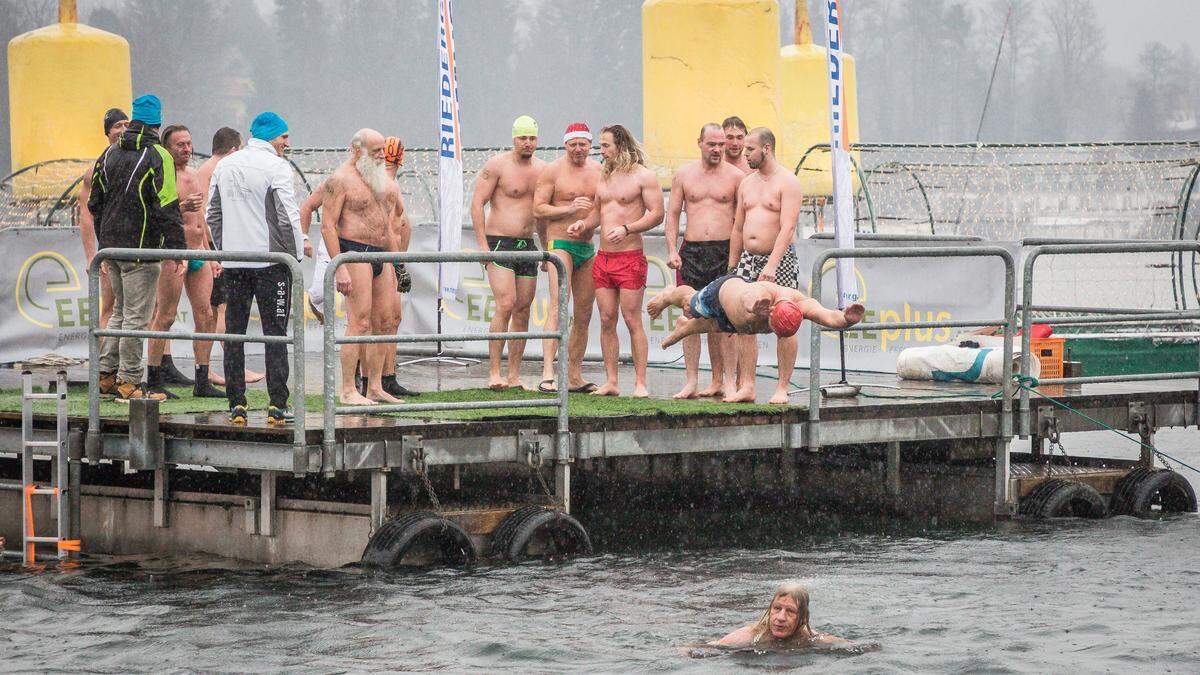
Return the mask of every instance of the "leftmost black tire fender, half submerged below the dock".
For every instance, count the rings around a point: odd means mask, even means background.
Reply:
[[[470,536],[455,521],[433,512],[408,513],[384,522],[362,551],[362,562],[376,567],[400,567],[414,544],[433,538],[440,562],[463,566],[475,562],[475,545]]]

